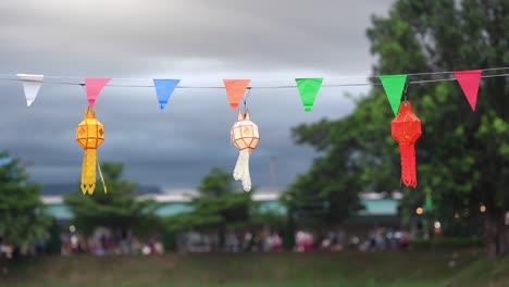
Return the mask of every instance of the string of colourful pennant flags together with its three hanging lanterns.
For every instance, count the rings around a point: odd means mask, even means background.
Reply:
[[[103,191],[107,191],[107,186],[102,177],[99,160],[97,155],[97,148],[104,141],[104,127],[96,118],[94,105],[97,97],[101,93],[105,86],[121,86],[121,87],[154,87],[156,96],[159,102],[159,107],[163,110],[170,97],[173,95],[176,88],[224,88],[226,90],[226,98],[233,110],[237,110],[240,101],[246,93],[246,90],[252,88],[297,88],[302,105],[306,112],[310,112],[314,100],[320,92],[320,89],[324,86],[337,87],[337,86],[382,86],[385,95],[387,96],[390,109],[394,112],[394,120],[390,122],[392,137],[398,141],[401,159],[401,183],[408,187],[417,187],[417,169],[415,169],[415,141],[421,137],[421,121],[412,112],[410,102],[406,99],[401,101],[404,91],[408,88],[408,85],[412,84],[430,84],[436,82],[457,80],[461,87],[467,101],[469,102],[472,111],[475,111],[477,103],[477,93],[481,78],[488,77],[506,77],[509,73],[493,73],[497,71],[509,70],[509,67],[492,67],[484,70],[468,70],[468,71],[452,71],[452,72],[430,72],[430,73],[414,73],[414,74],[397,74],[397,75],[375,75],[364,77],[372,79],[369,83],[345,83],[336,85],[324,85],[323,77],[315,78],[295,78],[295,86],[264,86],[264,87],[252,87],[249,86],[251,79],[223,79],[222,86],[214,87],[200,87],[200,86],[183,86],[181,79],[169,79],[169,78],[153,78],[151,79],[153,85],[112,85],[110,84],[112,78],[79,78],[79,83],[65,82],[64,79],[71,79],[75,77],[57,77],[47,76],[45,80],[44,75],[33,74],[16,74],[15,77],[4,77],[0,75],[0,79],[3,80],[20,80],[23,84],[25,92],[26,104],[28,107],[36,100],[37,95],[42,84],[61,84],[61,85],[79,85],[85,88],[86,97],[88,100],[88,108],[85,113],[84,120],[78,124],[76,128],[76,142],[84,149],[85,154],[82,165],[82,184],[80,188],[83,194],[92,195],[96,188],[97,171],[101,178]],[[488,75],[483,75],[484,72],[491,72]],[[440,78],[427,78],[427,79],[412,79],[411,77],[422,76],[436,76],[447,75],[449,77]],[[48,78],[58,79],[47,80]],[[249,95],[249,92],[248,92]],[[248,96],[246,96],[248,97]],[[244,100],[246,102],[246,99]],[[231,130],[231,139],[236,148],[239,150],[239,157],[237,159],[233,176],[236,180],[241,180],[244,190],[249,191],[251,189],[251,178],[249,173],[249,154],[257,148],[260,141],[260,133],[258,125],[251,122],[247,108],[245,111],[238,110],[237,121],[233,125]]]

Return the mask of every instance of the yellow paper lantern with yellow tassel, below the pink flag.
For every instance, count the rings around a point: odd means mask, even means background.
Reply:
[[[82,192],[92,195],[96,189],[96,165],[99,169],[104,192],[107,187],[97,159],[97,147],[104,141],[104,126],[97,121],[96,114],[88,107],[85,118],[76,127],[76,142],[85,149],[82,167]]]

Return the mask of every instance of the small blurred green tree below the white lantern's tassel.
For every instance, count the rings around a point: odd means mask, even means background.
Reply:
[[[193,198],[190,207],[190,212],[169,217],[169,228],[172,230],[193,227],[218,228],[219,245],[223,248],[226,228],[249,224],[253,203],[249,192],[235,187],[229,173],[213,167],[201,179],[198,195]]]

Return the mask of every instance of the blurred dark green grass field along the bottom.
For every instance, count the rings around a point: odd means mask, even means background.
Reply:
[[[46,257],[15,262],[0,286],[509,286],[509,258],[486,260],[483,250]]]

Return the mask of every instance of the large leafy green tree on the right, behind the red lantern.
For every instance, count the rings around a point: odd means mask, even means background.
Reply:
[[[378,59],[373,72],[507,66],[508,15],[509,2],[504,0],[398,0],[388,17],[374,16],[368,29],[371,50]],[[424,78],[409,76],[409,80],[417,79]],[[421,202],[430,195],[433,215],[446,222],[454,222],[458,214],[471,222],[482,217],[489,257],[504,254],[508,248],[504,222],[509,208],[508,84],[506,77],[483,80],[475,113],[457,83],[411,84],[408,88],[423,136],[417,142],[419,186],[404,190],[405,195]],[[333,162],[331,169],[355,166],[360,190],[400,189],[399,154],[390,138],[394,115],[383,90],[374,87],[357,103],[345,118],[298,127],[298,140],[324,151],[322,161],[332,161],[350,148],[350,155]],[[481,203],[486,207],[484,214],[479,212]],[[414,208],[402,207],[402,211],[410,213]],[[444,227],[447,230],[447,224]]]

